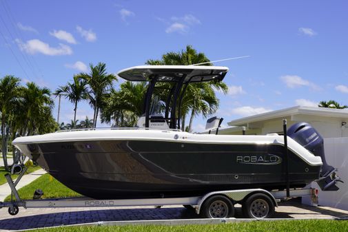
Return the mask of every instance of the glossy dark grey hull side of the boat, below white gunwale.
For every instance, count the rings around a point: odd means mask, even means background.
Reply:
[[[82,140],[21,146],[28,146],[32,160],[54,178],[95,199],[286,187],[285,149],[277,143]],[[289,150],[291,188],[305,187],[319,173],[320,165],[310,165]]]

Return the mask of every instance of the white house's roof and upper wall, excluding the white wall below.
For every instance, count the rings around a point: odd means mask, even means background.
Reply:
[[[294,123],[311,124],[323,138],[348,137],[348,110],[321,107],[291,107],[264,114],[232,120],[228,128],[220,129],[218,134],[283,134],[283,119],[287,127]]]

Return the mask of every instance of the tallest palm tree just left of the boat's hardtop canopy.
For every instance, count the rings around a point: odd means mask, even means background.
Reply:
[[[108,72],[106,72],[105,63],[98,63],[96,66],[90,63],[90,73],[81,72],[77,74],[77,76],[85,80],[90,87],[88,98],[90,100],[90,105],[92,105],[94,109],[93,127],[96,127],[99,109],[101,109],[103,103],[105,103],[103,99],[110,94],[112,83],[113,81],[117,81],[117,78],[114,74],[108,74]]]

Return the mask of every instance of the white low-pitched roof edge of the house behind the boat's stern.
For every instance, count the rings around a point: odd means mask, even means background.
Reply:
[[[243,126],[247,123],[254,123],[263,120],[271,120],[274,118],[282,118],[286,116],[294,116],[298,114],[309,115],[309,116],[323,116],[331,118],[348,118],[348,110],[346,109],[332,109],[324,107],[305,107],[296,106],[286,109],[279,109],[272,112],[267,112],[263,114],[256,114],[253,116],[248,116],[245,118],[239,118],[232,120],[227,123],[229,126]]]

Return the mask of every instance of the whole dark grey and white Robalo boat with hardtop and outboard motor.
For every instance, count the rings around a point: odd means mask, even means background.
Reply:
[[[121,70],[118,76],[126,81],[148,82],[138,127],[57,131],[19,137],[12,144],[65,186],[94,199],[296,189],[314,180],[322,189],[337,190],[338,177],[325,161],[323,138],[306,123],[290,127],[289,136],[182,131],[180,109],[187,85],[223,81],[227,72],[227,67],[194,65]],[[170,86],[162,114],[151,111],[157,83]]]

